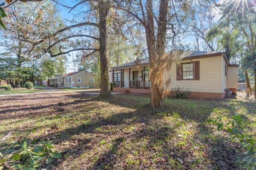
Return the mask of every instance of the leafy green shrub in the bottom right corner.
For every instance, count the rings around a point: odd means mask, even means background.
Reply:
[[[250,124],[241,118],[241,115],[231,116],[231,120],[224,125],[221,117],[216,119],[208,119],[208,122],[218,125],[217,129],[225,130],[230,133],[231,139],[238,139],[242,150],[242,156],[238,157],[238,160],[242,166],[242,169],[255,169],[256,168],[256,139],[253,133],[248,132],[246,127]]]

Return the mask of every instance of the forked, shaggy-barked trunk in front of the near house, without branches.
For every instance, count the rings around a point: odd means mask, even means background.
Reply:
[[[164,106],[164,84],[163,84],[163,57],[166,44],[166,18],[167,18],[168,0],[160,0],[158,34],[155,40],[154,30],[154,14],[152,0],[146,0],[147,10],[147,28],[146,39],[148,47],[148,57],[150,65],[150,81],[151,81],[151,106]]]

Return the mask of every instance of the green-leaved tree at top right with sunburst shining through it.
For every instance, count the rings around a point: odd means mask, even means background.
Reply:
[[[222,18],[218,25],[209,31],[208,37],[216,35],[221,36],[218,43],[229,44],[232,47],[230,56],[234,59],[240,59],[242,63],[248,62],[248,58],[253,59],[253,53],[256,51],[256,7],[254,2],[224,1]],[[247,56],[248,54],[249,56]],[[237,58],[240,56],[242,57]],[[254,61],[250,61],[249,64],[251,68],[254,68]],[[242,64],[245,71],[248,70],[248,65],[246,65]],[[246,80],[249,78],[246,77]],[[246,82],[250,86],[250,83]]]

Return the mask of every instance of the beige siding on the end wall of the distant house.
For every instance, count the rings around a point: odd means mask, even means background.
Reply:
[[[77,78],[80,77],[81,78],[81,83],[77,83]],[[79,72],[77,74],[74,74],[72,76],[72,81],[74,82],[74,84],[72,84],[72,87],[88,87],[89,84],[88,82],[91,81],[92,78],[92,73],[90,72]]]

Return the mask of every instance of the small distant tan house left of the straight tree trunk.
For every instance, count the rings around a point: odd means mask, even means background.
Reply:
[[[94,83],[91,72],[86,70],[70,72],[67,74],[56,75],[50,78],[48,86],[68,87],[68,88],[90,88]]]

